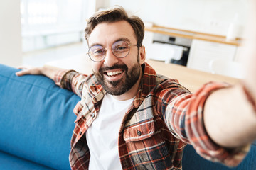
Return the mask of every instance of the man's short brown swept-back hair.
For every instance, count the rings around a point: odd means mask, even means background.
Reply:
[[[97,24],[114,23],[122,20],[131,24],[137,38],[137,45],[142,46],[142,40],[144,38],[144,23],[142,19],[137,16],[129,17],[122,6],[115,6],[115,8],[97,12],[89,18],[85,28],[85,39],[88,42],[88,38],[90,37],[92,30],[97,26]]]

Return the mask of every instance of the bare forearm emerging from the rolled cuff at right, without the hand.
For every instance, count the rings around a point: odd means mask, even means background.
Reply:
[[[222,147],[243,147],[256,139],[256,113],[242,88],[220,89],[206,100],[206,131]]]

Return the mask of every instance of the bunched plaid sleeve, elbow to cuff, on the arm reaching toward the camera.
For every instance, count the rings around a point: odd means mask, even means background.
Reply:
[[[193,145],[201,157],[227,166],[236,166],[242,162],[250,145],[238,149],[220,147],[210,139],[203,123],[203,106],[208,96],[213,91],[229,86],[210,82],[203,85],[195,94],[181,93],[178,89],[172,90],[176,97],[166,106],[165,121],[172,134]]]

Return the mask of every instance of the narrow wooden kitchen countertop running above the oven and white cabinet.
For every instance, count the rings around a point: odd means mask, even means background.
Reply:
[[[206,40],[210,42],[218,42],[228,45],[236,45],[239,46],[241,43],[240,38],[237,38],[236,40],[226,40],[225,36],[222,35],[213,35],[213,34],[207,34],[207,33],[199,33],[195,31],[190,30],[181,30],[176,28],[168,28],[164,26],[151,26],[146,27],[146,31],[151,31],[154,33],[161,33],[165,35],[180,37],[180,38],[188,38],[188,39],[196,39],[196,40]]]

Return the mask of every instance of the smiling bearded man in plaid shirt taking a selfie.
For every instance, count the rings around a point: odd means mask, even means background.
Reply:
[[[186,143],[206,159],[239,164],[256,138],[256,82],[211,82],[191,94],[145,62],[143,37],[140,18],[122,7],[101,11],[85,29],[92,75],[49,67],[16,73],[44,74],[81,97],[71,168],[181,169]]]

